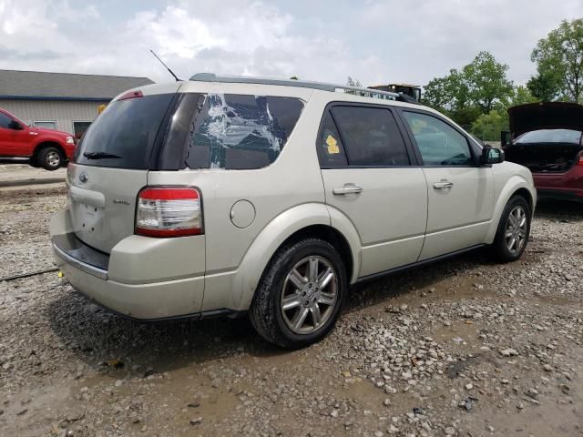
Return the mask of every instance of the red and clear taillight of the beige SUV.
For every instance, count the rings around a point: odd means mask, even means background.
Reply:
[[[136,233],[147,237],[202,234],[200,193],[189,187],[147,187],[138,194]]]

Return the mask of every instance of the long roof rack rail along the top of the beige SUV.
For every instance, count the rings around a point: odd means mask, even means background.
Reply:
[[[332,93],[353,94],[361,97],[381,98],[384,100],[402,100],[402,96],[389,91],[379,91],[371,88],[361,88],[358,86],[345,86],[336,84],[327,84],[323,82],[310,82],[306,80],[295,79],[271,79],[267,77],[251,76],[217,76],[214,73],[197,73],[190,76],[190,80],[199,82],[226,82],[233,84],[262,84],[262,85],[279,85],[279,86],[297,86],[301,88],[320,89]]]

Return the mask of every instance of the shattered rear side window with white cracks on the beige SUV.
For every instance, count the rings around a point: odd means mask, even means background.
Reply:
[[[188,168],[250,169],[280,155],[302,113],[294,97],[209,94],[193,124]]]

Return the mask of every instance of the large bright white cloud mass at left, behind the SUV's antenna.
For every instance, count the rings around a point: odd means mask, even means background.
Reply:
[[[182,77],[214,71],[344,82],[381,67],[375,56],[351,55],[340,34],[304,33],[302,19],[256,1],[173,2],[112,24],[93,6],[0,0],[0,23],[0,40],[18,47],[18,56],[0,57],[0,68],[169,80],[150,48]],[[60,56],[38,56],[39,48]]]

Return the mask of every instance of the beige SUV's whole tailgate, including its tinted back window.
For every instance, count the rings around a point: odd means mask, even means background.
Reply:
[[[145,86],[117,97],[87,129],[68,168],[70,219],[87,246],[110,253],[134,233],[138,192],[164,136],[179,84]]]

